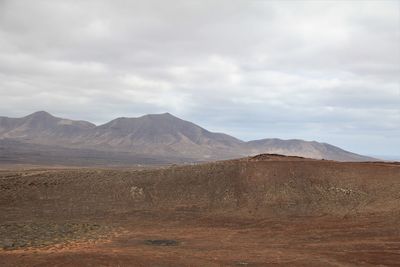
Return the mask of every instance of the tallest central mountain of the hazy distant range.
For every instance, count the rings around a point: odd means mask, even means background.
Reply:
[[[93,148],[192,158],[226,158],[242,143],[169,113],[112,120],[97,127],[87,142]]]

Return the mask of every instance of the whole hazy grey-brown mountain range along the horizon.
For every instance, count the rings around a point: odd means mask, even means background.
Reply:
[[[124,162],[127,157],[138,158],[139,155],[140,158],[156,161],[163,159],[165,162],[169,158],[173,159],[173,162],[179,162],[179,159],[204,161],[260,153],[338,161],[374,160],[315,141],[262,139],[244,142],[223,133],[207,131],[169,113],[139,118],[117,118],[100,126],[86,121],[57,118],[45,111],[35,112],[23,118],[0,117],[0,140],[3,141],[0,142],[0,161],[5,157],[6,151],[1,150],[2,144],[7,145],[9,154],[13,145],[16,151],[21,152],[21,144],[34,144],[36,146],[26,147],[32,152],[36,149],[41,153],[47,148],[54,155],[59,155],[63,148],[70,149],[69,155],[77,156],[83,153],[85,158],[93,157],[94,161],[95,154],[107,158],[106,152],[110,152],[110,158],[123,158]],[[27,153],[27,150],[29,149],[22,151]]]

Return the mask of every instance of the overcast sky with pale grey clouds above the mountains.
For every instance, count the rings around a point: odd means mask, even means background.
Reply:
[[[38,110],[400,155],[400,1],[0,0],[0,116]]]

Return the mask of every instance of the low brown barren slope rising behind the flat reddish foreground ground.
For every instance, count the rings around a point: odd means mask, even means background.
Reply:
[[[10,204],[10,199],[21,204],[46,191],[49,201],[76,202],[74,212],[85,216],[99,209],[118,213],[193,208],[259,216],[400,211],[400,165],[390,163],[340,163],[263,154],[150,171],[21,174],[1,180],[19,184],[13,189],[16,191],[2,192],[3,204]],[[26,206],[31,211],[25,212],[40,215],[42,205],[47,204],[39,201],[37,205],[37,210]]]

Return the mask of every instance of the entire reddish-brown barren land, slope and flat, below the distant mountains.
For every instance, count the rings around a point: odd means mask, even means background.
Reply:
[[[0,266],[399,266],[400,165],[0,171]]]

